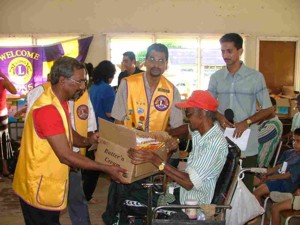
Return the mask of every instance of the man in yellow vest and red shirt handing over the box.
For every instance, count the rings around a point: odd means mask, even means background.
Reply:
[[[72,129],[68,101],[86,88],[85,67],[71,57],[57,59],[50,85],[28,109],[13,190],[19,196],[26,224],[59,225],[66,208],[70,168],[99,170],[125,182],[126,170],[96,163],[72,151],[98,143],[98,133],[81,136]]]

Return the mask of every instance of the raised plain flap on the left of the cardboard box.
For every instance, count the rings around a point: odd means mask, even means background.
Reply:
[[[105,130],[105,132],[103,132]],[[132,129],[99,118],[100,137],[127,149],[135,148],[136,134]]]

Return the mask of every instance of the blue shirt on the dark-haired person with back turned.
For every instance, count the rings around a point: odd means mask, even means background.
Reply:
[[[90,87],[89,94],[95,111],[98,129],[99,117],[114,122],[113,118],[106,115],[106,113],[111,113],[111,109],[115,101],[114,89],[109,84],[101,81],[99,84],[93,84]]]

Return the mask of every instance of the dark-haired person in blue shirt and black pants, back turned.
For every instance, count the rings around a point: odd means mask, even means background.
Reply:
[[[110,83],[114,79],[115,73],[115,65],[108,60],[100,62],[94,69],[93,84],[89,89],[89,94],[95,111],[97,130],[99,130],[98,118],[114,122],[114,119],[111,117],[111,109],[115,101],[115,91],[110,86]],[[87,151],[86,156],[95,160],[95,151]],[[83,171],[83,190],[89,203],[98,203],[93,198],[98,178],[98,171]]]

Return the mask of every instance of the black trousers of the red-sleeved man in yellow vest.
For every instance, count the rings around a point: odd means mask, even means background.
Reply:
[[[60,225],[60,211],[47,211],[28,205],[20,198],[20,204],[26,225]]]

